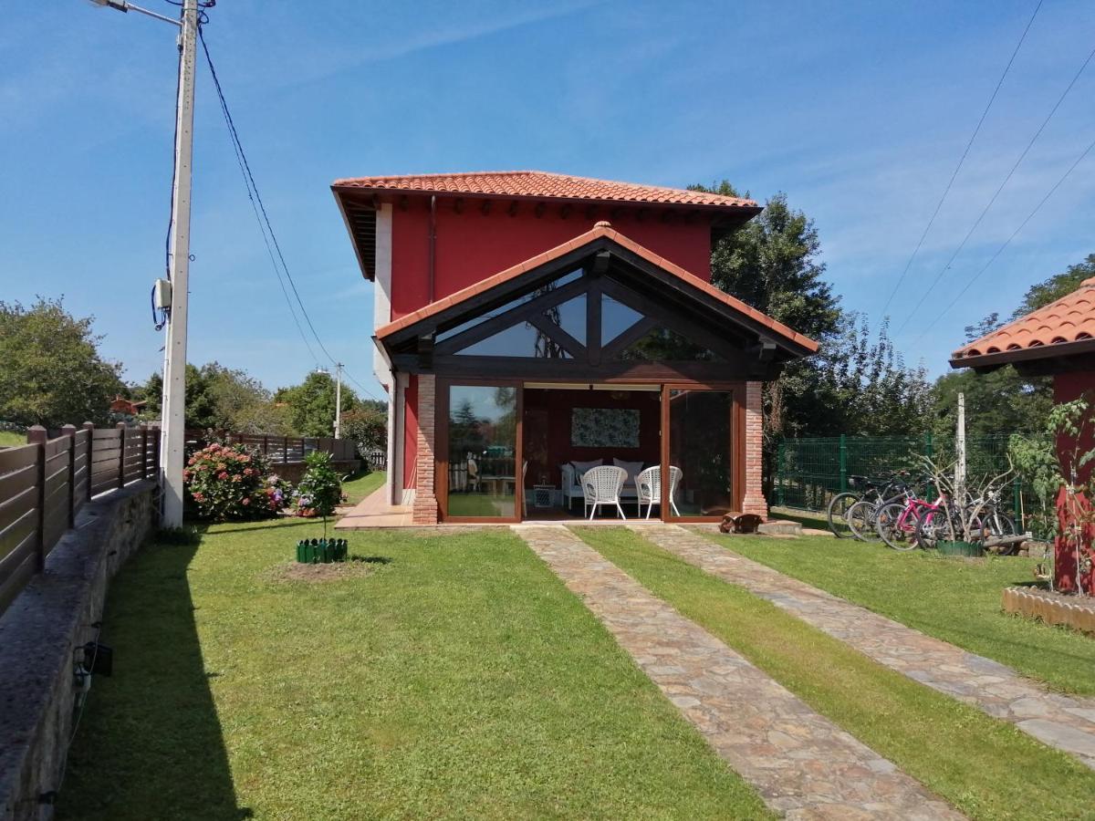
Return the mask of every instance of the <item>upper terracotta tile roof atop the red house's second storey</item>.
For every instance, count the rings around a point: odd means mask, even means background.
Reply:
[[[759,208],[744,197],[665,188],[658,185],[618,183],[546,171],[484,171],[462,174],[410,174],[336,180],[334,188],[364,188],[381,192],[468,194],[496,197],[585,199],[590,201],[692,205],[724,208]]]

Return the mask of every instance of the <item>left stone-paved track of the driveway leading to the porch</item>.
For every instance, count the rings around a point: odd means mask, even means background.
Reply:
[[[515,525],[764,801],[791,819],[960,819],[561,525]]]

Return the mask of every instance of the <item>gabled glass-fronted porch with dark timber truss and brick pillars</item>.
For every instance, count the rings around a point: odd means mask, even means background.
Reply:
[[[585,516],[593,469],[618,518],[763,516],[761,382],[817,348],[608,223],[376,338],[415,523]]]

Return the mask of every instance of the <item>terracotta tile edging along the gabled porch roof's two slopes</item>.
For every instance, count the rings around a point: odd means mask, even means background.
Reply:
[[[460,304],[464,300],[471,299],[472,297],[475,297],[482,293],[483,291],[499,286],[503,282],[512,279],[514,277],[520,276],[527,270],[531,270],[532,268],[537,268],[541,265],[550,263],[552,259],[561,257],[570,251],[581,247],[583,245],[587,245],[593,240],[601,236],[606,236],[612,240],[613,242],[622,245],[629,251],[643,257],[647,262],[657,265],[662,270],[666,270],[672,274],[673,276],[678,277],[679,279],[682,279],[683,281],[691,285],[693,288],[696,288],[703,291],[704,293],[714,297],[723,304],[733,308],[735,311],[738,311],[745,314],[746,316],[749,316],[750,319],[760,323],[764,327],[768,327],[777,336],[782,336],[784,339],[793,342],[806,348],[810,352],[814,352],[818,349],[818,343],[816,343],[814,339],[810,339],[807,336],[803,336],[798,332],[793,331],[792,328],[784,325],[782,322],[776,322],[768,314],[761,313],[756,308],[746,304],[741,300],[731,297],[725,291],[721,291],[718,288],[711,285],[711,282],[704,281],[700,277],[695,276],[695,274],[691,274],[690,271],[684,270],[684,268],[680,267],[679,265],[671,263],[664,257],[658,256],[653,251],[649,251],[648,248],[639,245],[634,240],[624,236],[622,233],[613,229],[611,224],[603,221],[598,222],[589,231],[586,231],[583,234],[578,234],[573,240],[564,242],[562,245],[556,245],[555,247],[545,251],[542,254],[538,254],[531,259],[526,259],[523,263],[518,263],[517,265],[510,268],[506,268],[506,270],[499,271],[494,276],[487,277],[486,279],[482,279],[479,282],[470,285],[466,288],[463,288],[448,297],[443,297],[442,299],[439,299],[436,302],[430,302],[428,305],[419,308],[417,311],[412,311],[411,313],[401,316],[394,322],[390,322],[383,327],[377,329],[377,337],[383,339],[384,337],[391,336],[397,331],[402,331],[403,328],[414,325],[415,323],[422,320],[428,319],[434,314],[440,313],[447,308]]]

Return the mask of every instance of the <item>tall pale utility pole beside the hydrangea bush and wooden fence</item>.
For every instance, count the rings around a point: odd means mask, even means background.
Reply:
[[[194,148],[194,69],[198,0],[183,0],[178,36],[178,104],[175,119],[175,186],[171,194],[171,313],[163,349],[160,442],[160,527],[183,524],[186,461],[186,314],[191,264],[191,159]]]

